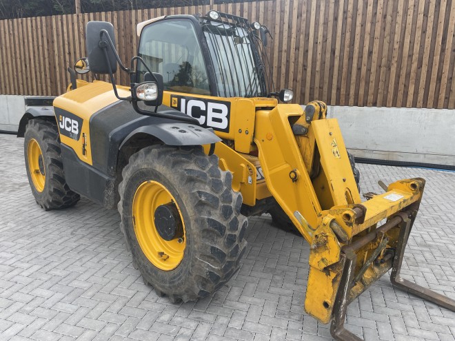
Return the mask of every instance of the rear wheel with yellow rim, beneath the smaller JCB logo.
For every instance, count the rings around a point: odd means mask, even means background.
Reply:
[[[24,138],[28,182],[38,205],[46,211],[76,205],[81,197],[65,181],[57,125],[32,119]]]

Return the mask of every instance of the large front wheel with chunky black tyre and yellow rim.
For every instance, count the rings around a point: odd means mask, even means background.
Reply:
[[[133,154],[123,169],[118,205],[121,229],[144,282],[171,302],[197,300],[222,287],[239,268],[245,252],[247,219],[240,214],[242,196],[232,190],[232,174],[222,172],[218,162],[218,157],[206,156],[201,147],[153,145]],[[142,196],[147,190],[144,186],[158,192]],[[183,220],[184,229],[183,239],[178,240],[184,242],[183,251],[174,256],[169,253],[166,260],[156,259],[155,255],[163,256],[157,243],[163,242],[163,249],[168,249],[167,243],[177,249],[179,245],[176,237],[166,241],[157,232],[156,207],[163,202],[158,200],[162,195],[167,198],[164,205],[178,209],[175,216]],[[174,267],[165,268],[171,264]]]

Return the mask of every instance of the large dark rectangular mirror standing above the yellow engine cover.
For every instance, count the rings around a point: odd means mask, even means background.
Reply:
[[[101,32],[105,30],[105,32]],[[114,26],[106,21],[89,21],[85,26],[86,45],[90,70],[96,74],[114,74],[117,72],[117,57],[108,40],[115,45]],[[101,48],[100,46],[105,47]],[[108,53],[108,61],[105,59],[105,51]]]

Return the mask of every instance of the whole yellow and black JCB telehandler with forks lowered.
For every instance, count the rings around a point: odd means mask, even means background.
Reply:
[[[137,25],[126,68],[110,23],[86,27],[88,59],[52,107],[31,107],[18,136],[43,209],[80,196],[118,207],[134,265],[159,295],[196,300],[227,282],[245,252],[246,216],[270,211],[310,244],[305,310],[338,340],[347,304],[392,269],[392,284],[448,309],[455,301],[400,277],[425,180],[362,202],[324,103],[279,104],[260,23],[211,10]],[[116,85],[117,65],[130,86]],[[381,220],[386,220],[378,226]]]

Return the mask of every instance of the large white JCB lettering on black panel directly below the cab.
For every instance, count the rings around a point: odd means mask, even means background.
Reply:
[[[230,102],[199,99],[188,96],[171,96],[171,107],[196,118],[203,127],[229,132]]]

